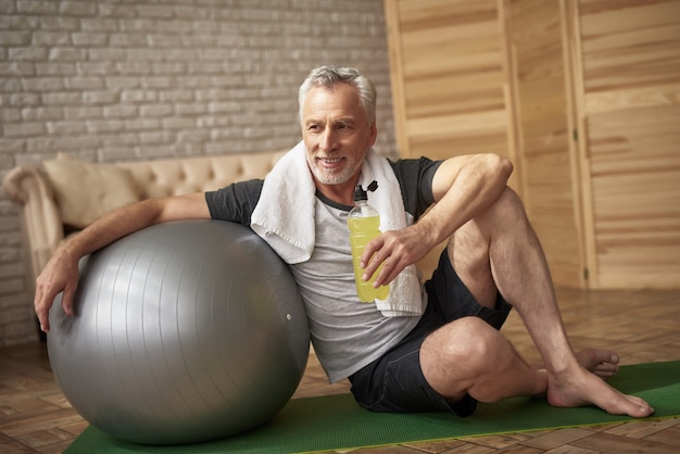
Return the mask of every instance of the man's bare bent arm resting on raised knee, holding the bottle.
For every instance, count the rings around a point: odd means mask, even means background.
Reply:
[[[376,286],[389,283],[406,266],[423,258],[498,200],[512,172],[508,160],[490,153],[444,161],[432,179],[437,203],[416,224],[403,230],[387,231],[368,243],[362,256],[364,277],[372,276],[385,262]]]

